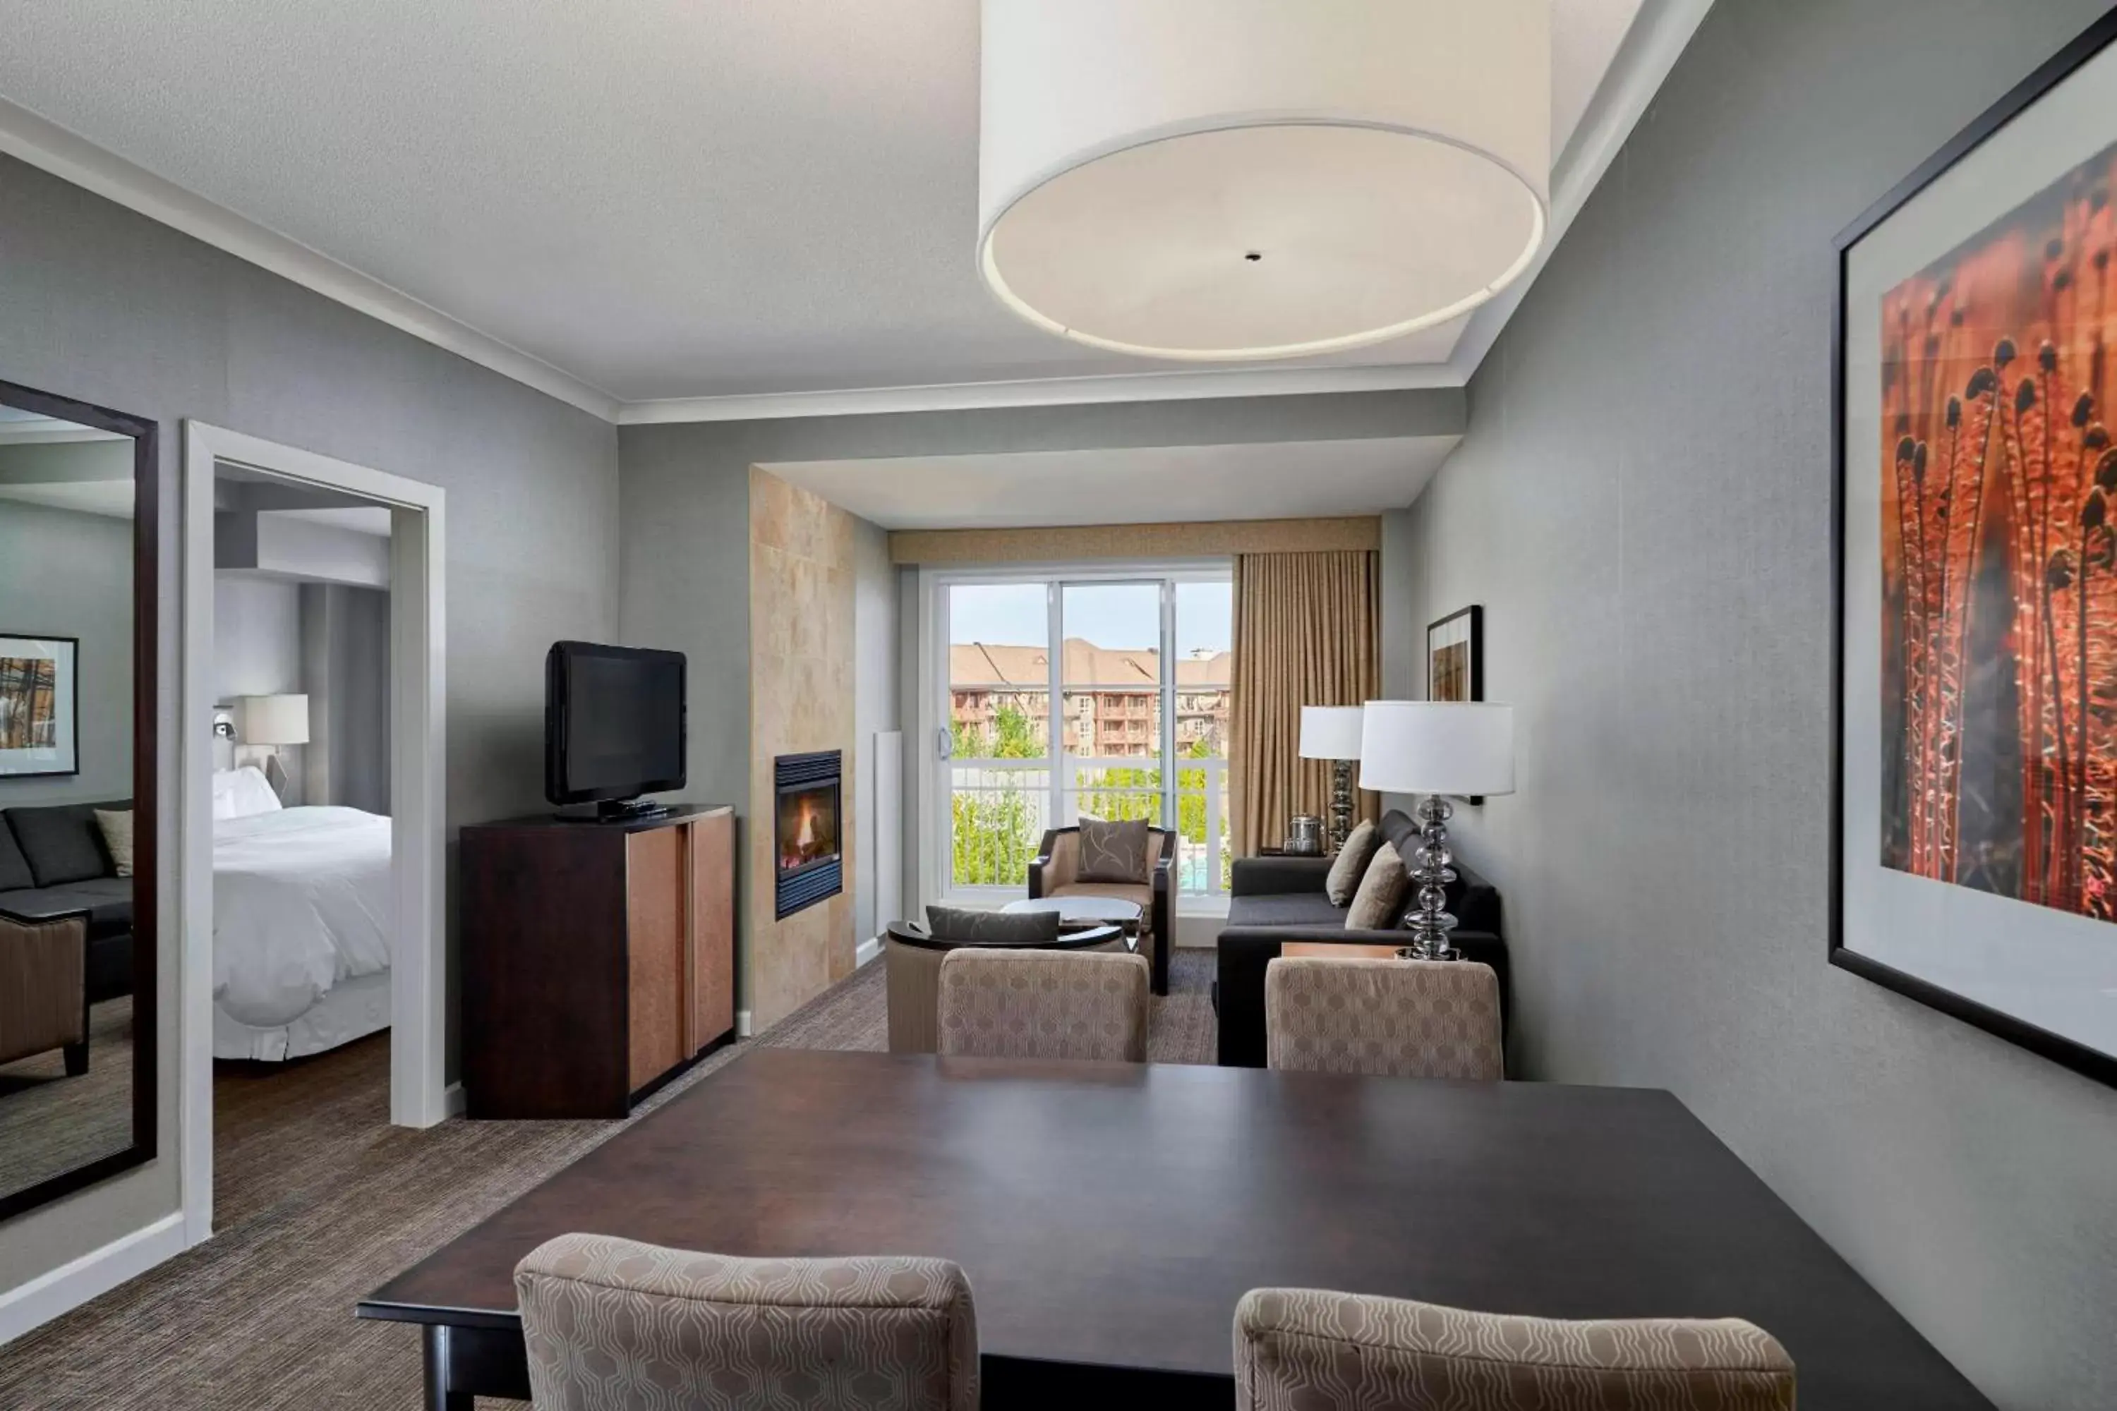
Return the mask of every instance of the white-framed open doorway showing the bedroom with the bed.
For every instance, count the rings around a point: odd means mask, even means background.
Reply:
[[[186,1240],[440,1077],[440,491],[186,423]]]

